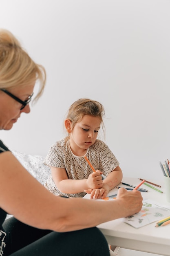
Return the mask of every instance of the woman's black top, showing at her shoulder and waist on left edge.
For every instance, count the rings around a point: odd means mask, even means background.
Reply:
[[[0,153],[9,151],[9,149],[2,143],[0,140]],[[6,233],[4,232],[4,229],[2,228],[2,223],[4,222],[5,218],[7,216],[6,211],[0,208],[0,252],[3,254],[3,248],[5,247],[5,236]]]

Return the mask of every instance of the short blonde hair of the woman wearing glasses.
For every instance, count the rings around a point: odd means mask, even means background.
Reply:
[[[40,88],[34,101],[44,90],[45,69],[30,58],[10,31],[0,29],[0,88],[22,87],[35,81]]]

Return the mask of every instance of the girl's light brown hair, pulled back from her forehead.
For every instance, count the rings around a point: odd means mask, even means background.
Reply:
[[[78,99],[68,110],[67,119],[71,120],[72,129],[75,124],[82,120],[85,115],[99,117],[102,124],[103,132],[105,132],[103,116],[105,114],[104,106],[98,101],[91,99]]]

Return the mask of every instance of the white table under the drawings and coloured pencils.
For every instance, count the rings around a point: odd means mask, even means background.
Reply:
[[[148,189],[148,192],[141,193],[144,200],[151,199],[161,205],[170,207],[170,203],[166,201],[166,195],[164,193],[163,177],[161,181],[149,181],[161,185],[161,188],[155,187],[163,191],[163,193],[159,193],[142,184],[142,188]],[[138,185],[141,181],[137,178],[124,177],[122,182]],[[121,184],[121,186],[123,185]],[[112,191],[116,193],[117,189],[113,189]],[[85,198],[88,197],[89,195],[85,196]],[[139,229],[135,229],[122,220],[123,219],[120,218],[97,226],[102,231],[109,244],[126,249],[170,256],[170,224],[164,227],[155,227],[156,222],[153,222]]]

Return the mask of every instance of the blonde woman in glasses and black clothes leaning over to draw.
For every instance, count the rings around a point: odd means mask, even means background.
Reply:
[[[0,30],[0,129],[10,130],[29,113],[35,82],[40,97],[44,67],[36,64],[9,31]],[[140,211],[139,191],[119,189],[110,202],[62,198],[50,193],[0,141],[0,255],[107,256],[95,226]],[[7,213],[14,217],[5,220]],[[69,231],[69,232],[68,232]]]

